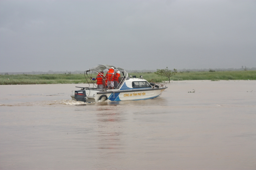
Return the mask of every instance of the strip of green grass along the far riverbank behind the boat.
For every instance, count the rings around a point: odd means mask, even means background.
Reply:
[[[152,79],[154,82],[167,81],[166,77],[159,77],[155,73],[128,73],[129,76],[139,78],[143,76],[148,82]],[[96,78],[96,74],[92,75]],[[190,71],[177,72],[171,77],[172,80],[256,80],[256,70],[246,71]],[[87,83],[84,74],[16,74],[0,75],[0,85],[32,85],[32,84],[78,84]],[[96,81],[95,81],[96,83]]]

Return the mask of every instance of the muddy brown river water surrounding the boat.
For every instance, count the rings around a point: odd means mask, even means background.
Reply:
[[[70,100],[75,86],[0,86],[1,170],[256,169],[256,81],[90,104]]]

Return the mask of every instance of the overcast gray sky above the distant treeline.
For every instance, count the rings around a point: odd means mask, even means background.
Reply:
[[[256,67],[256,1],[0,1],[0,72],[98,64]]]

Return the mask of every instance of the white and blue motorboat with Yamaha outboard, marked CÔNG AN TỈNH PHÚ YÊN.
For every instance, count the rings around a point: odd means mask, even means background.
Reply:
[[[122,80],[114,89],[98,89],[96,84],[96,77],[99,72],[108,72],[109,69],[114,68],[114,73],[120,72]],[[162,94],[167,88],[166,83],[155,83],[152,80],[148,83],[142,76],[128,76],[128,73],[119,67],[112,65],[97,65],[89,70],[84,71],[84,77],[89,84],[88,87],[77,87],[80,90],[72,91],[71,98],[75,101],[83,101],[87,103],[111,100],[147,100],[153,99]],[[105,82],[106,78],[102,77]]]

